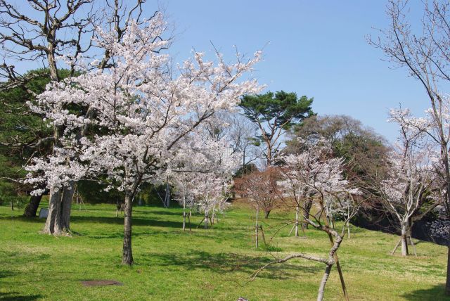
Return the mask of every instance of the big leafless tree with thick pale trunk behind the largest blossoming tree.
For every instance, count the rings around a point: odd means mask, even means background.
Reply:
[[[0,41],[4,46],[0,51],[0,56],[4,58],[4,63],[0,66],[0,78],[8,79],[8,83],[2,84],[0,89],[21,87],[34,99],[37,94],[32,89],[27,89],[30,80],[48,76],[52,81],[59,82],[68,73],[66,69],[70,69],[71,76],[77,75],[83,56],[98,58],[100,62],[98,69],[108,69],[113,65],[110,62],[109,51],[96,47],[92,39],[96,35],[96,26],[104,24],[114,27],[115,39],[119,42],[127,31],[131,19],[141,24],[144,2],[142,0],[127,3],[118,0],[76,0],[66,3],[41,0],[0,1]],[[30,9],[25,10],[25,13],[20,10],[23,6],[29,6]],[[15,69],[14,62],[23,60],[39,62],[44,66],[44,70],[38,72],[39,74],[34,72],[21,75]],[[80,111],[79,115],[84,113],[91,113],[91,110]],[[40,114],[37,116],[42,117]],[[78,135],[86,134],[86,129],[87,127],[79,129]],[[64,124],[58,126],[53,124],[51,132],[52,135],[39,139],[36,146],[48,146],[49,152],[53,151],[53,146],[63,147],[59,143],[59,138],[63,135]],[[27,148],[25,144],[20,147]],[[76,184],[76,181],[71,181],[70,185],[62,189],[49,191],[51,214],[46,219],[42,233],[70,235],[70,210]],[[30,207],[37,208],[40,197],[32,196]],[[58,210],[55,210],[56,208]]]

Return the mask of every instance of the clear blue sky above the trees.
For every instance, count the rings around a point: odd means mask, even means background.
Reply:
[[[230,60],[233,45],[249,55],[263,49],[255,76],[267,89],[314,97],[319,115],[350,115],[393,141],[397,127],[386,122],[388,109],[401,103],[420,115],[428,98],[406,70],[392,70],[366,41],[368,34],[377,36],[374,28],[389,25],[386,2],[147,0],[144,15],[164,8],[174,25],[176,61],[193,48],[212,54],[210,42]],[[422,3],[411,5],[419,21]],[[29,12],[27,4],[18,6]]]

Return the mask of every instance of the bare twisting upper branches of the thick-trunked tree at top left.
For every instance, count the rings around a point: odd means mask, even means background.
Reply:
[[[14,65],[8,64],[6,59],[40,60],[48,68],[51,79],[58,82],[56,58],[64,55],[76,60],[91,46],[89,39],[85,44],[85,34],[91,36],[94,32],[95,12],[92,6],[87,7],[92,0],[67,1],[66,4],[60,1],[26,2],[32,8],[30,15],[23,15],[17,3],[0,1],[0,41],[5,58],[0,75],[20,84],[29,78],[16,72]]]

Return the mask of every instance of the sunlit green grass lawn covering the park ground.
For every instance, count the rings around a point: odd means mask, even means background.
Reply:
[[[253,242],[252,211],[233,205],[214,229],[181,231],[181,209],[135,207],[135,264],[120,264],[123,218],[114,205],[72,208],[72,237],[39,234],[43,219],[24,219],[21,210],[0,206],[0,300],[315,300],[324,265],[292,260],[246,278],[271,255]],[[264,220],[266,236],[287,219]],[[274,238],[272,255],[310,252],[326,255],[329,242],[319,231],[307,238]],[[397,236],[353,229],[338,252],[350,300],[447,300],[446,248],[417,242],[418,256],[389,255]],[[276,252],[275,252],[276,251]],[[113,279],[123,286],[84,287],[80,281]],[[326,300],[342,300],[337,271]]]

